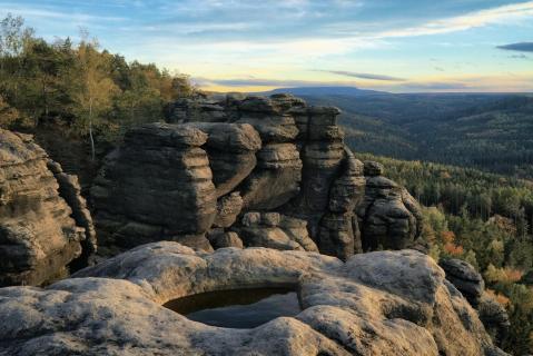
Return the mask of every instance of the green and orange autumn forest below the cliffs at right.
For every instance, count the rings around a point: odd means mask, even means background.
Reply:
[[[385,175],[424,206],[423,237],[436,258],[472,264],[511,318],[504,348],[533,349],[533,184],[473,168],[356,154],[382,162]]]

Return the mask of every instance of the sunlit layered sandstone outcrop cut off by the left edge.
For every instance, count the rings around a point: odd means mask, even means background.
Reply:
[[[39,285],[86,266],[95,230],[76,177],[31,136],[0,129],[0,286]]]

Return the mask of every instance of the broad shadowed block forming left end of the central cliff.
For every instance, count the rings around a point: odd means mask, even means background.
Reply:
[[[204,235],[217,216],[217,194],[200,148],[207,139],[194,125],[128,131],[91,189],[100,245],[120,250],[178,240],[209,249]]]

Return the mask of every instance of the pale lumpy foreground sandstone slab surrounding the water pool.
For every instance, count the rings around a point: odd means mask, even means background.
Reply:
[[[414,250],[334,257],[265,248],[135,248],[46,289],[0,289],[0,355],[505,355],[462,295]],[[161,305],[293,285],[303,312],[253,329]],[[135,313],[132,313],[135,310]]]

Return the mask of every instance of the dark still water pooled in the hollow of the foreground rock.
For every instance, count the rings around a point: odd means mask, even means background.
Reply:
[[[174,299],[165,307],[207,325],[253,328],[280,316],[302,312],[290,288],[218,290]]]

